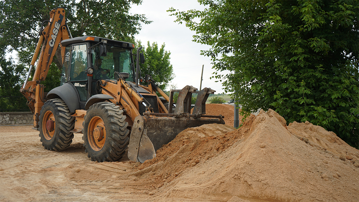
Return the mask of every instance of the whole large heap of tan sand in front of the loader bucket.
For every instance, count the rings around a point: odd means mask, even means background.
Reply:
[[[131,175],[149,179],[151,192],[169,198],[359,201],[358,152],[310,123],[286,126],[269,110],[237,130],[186,129]]]

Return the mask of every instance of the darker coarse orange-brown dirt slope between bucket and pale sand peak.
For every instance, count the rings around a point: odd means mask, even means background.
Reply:
[[[158,189],[187,168],[210,160],[218,152],[231,146],[237,137],[225,134],[234,129],[222,124],[187,128],[173,141],[157,150],[155,159],[147,160],[143,164],[136,163],[137,171],[130,175],[138,177],[139,181],[146,181],[150,185],[149,190]]]

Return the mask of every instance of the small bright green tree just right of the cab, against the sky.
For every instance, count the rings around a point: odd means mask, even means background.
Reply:
[[[141,46],[141,41],[138,42]],[[157,42],[147,42],[147,47],[142,47],[145,63],[140,64],[141,75],[150,74],[160,89],[164,90],[174,78],[173,68],[169,61],[171,52],[164,50],[165,44],[158,50]]]

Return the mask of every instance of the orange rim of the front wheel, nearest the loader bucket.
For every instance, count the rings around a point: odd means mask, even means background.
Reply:
[[[87,139],[94,151],[100,151],[106,142],[106,128],[99,116],[94,116],[88,126]]]

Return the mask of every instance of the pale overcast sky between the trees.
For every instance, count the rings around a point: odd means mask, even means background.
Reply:
[[[171,52],[170,61],[176,75],[171,84],[177,84],[177,89],[186,85],[200,89],[204,65],[202,89],[208,87],[214,89],[215,93],[223,93],[222,84],[215,82],[215,79],[209,79],[215,72],[210,58],[200,55],[200,50],[208,50],[210,46],[193,42],[192,36],[195,32],[185,24],[173,22],[176,17],[169,16],[171,13],[166,12],[171,7],[180,11],[204,9],[196,0],[143,0],[141,5],[132,6],[131,13],[145,14],[148,20],[153,22],[142,25],[139,35],[135,36],[136,40],[140,40],[145,46],[147,41],[157,42],[159,47],[165,43],[165,50]]]

